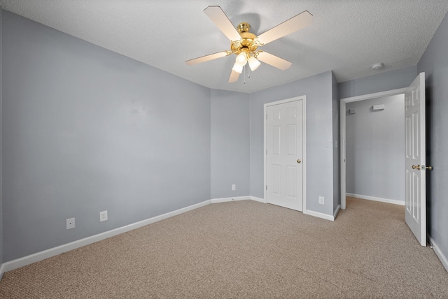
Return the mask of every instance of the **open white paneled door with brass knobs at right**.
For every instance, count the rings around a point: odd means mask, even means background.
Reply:
[[[405,92],[406,224],[426,246],[425,73]]]

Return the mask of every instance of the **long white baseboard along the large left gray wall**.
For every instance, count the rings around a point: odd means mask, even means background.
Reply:
[[[154,222],[167,219],[169,217],[173,217],[185,212],[188,212],[190,210],[195,210],[198,207],[203,207],[204,205],[209,205],[211,203],[211,200],[205,200],[202,203],[197,203],[195,205],[190,205],[188,207],[183,207],[179,210],[175,210],[173,212],[168,212],[165,214],[161,214],[159,216],[155,216],[146,220],[142,220],[139,222],[135,222],[134,224],[129,224],[127,226],[122,226],[120,228],[115,228],[111,231],[106,231],[104,233],[99,233],[97,235],[92,235],[87,238],[83,238],[80,240],[76,240],[64,245],[60,245],[57,247],[53,247],[50,249],[46,249],[44,251],[37,252],[35,254],[30,254],[29,256],[24,256],[22,258],[15,259],[13,261],[8,261],[6,263],[3,263],[1,266],[2,272],[8,272],[10,270],[14,270],[20,267],[23,267],[25,265],[29,265],[31,263],[36,263],[38,261],[42,261],[45,258],[50,258],[51,256],[56,256],[57,254],[62,254],[66,251],[70,251],[79,247],[83,247],[85,245],[92,244],[94,242],[98,242],[101,240],[104,240],[106,238],[111,238],[114,235],[119,235],[120,233],[126,233],[127,231],[132,231],[136,228],[140,228],[141,226],[146,226],[148,224],[152,224]]]

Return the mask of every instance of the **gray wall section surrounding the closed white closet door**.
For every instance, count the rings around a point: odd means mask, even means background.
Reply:
[[[250,94],[251,196],[264,197],[263,105],[307,96],[307,209],[333,214],[332,72]],[[319,205],[318,197],[325,197]]]

